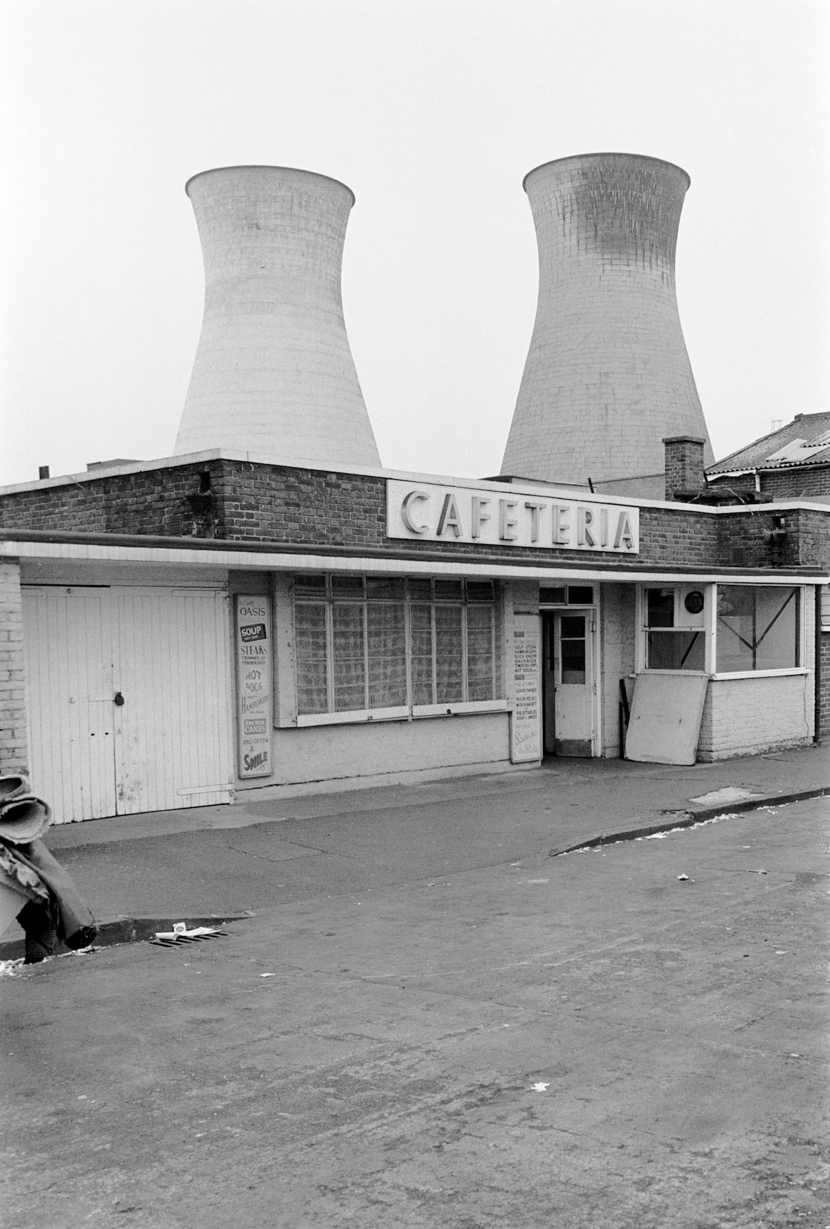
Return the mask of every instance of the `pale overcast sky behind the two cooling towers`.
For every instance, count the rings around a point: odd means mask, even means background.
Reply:
[[[678,302],[716,458],[830,409],[826,0],[5,0],[0,484],[172,454],[203,307],[186,179],[355,193],[346,324],[385,467],[497,473],[536,308],[521,181],[691,176]]]

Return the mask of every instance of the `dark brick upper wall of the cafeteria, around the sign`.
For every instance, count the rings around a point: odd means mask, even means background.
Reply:
[[[207,477],[205,477],[207,476]],[[209,484],[209,489],[205,489]],[[739,509],[713,516],[690,508],[642,508],[637,565],[799,567],[823,565],[828,514],[786,514],[786,537],[770,543],[772,514]],[[6,528],[216,537],[250,542],[374,547],[453,558],[566,560],[625,567],[620,556],[472,542],[401,542],[386,537],[386,483],[369,474],[343,474],[289,466],[213,460],[139,473],[85,476],[0,495]]]

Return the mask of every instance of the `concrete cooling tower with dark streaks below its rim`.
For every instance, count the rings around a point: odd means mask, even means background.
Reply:
[[[689,176],[659,159],[587,154],[524,181],[539,304],[503,474],[663,499],[663,438],[700,436],[674,257]]]

